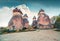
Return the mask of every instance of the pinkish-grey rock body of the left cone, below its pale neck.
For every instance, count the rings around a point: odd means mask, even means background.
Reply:
[[[21,29],[22,28],[22,16],[20,15],[15,15],[11,18],[8,24],[9,27],[15,26],[16,29]]]

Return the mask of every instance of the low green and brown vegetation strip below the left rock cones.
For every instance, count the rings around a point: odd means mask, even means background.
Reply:
[[[23,30],[9,30],[7,29],[8,27],[0,27],[0,35],[1,34],[7,34],[7,33],[14,33],[14,32],[27,32],[27,31],[35,31],[31,26],[29,26],[28,29],[23,29]]]

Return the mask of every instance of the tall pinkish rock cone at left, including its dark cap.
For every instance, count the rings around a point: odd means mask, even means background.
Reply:
[[[13,16],[8,23],[9,28],[15,27],[15,29],[22,29],[22,12],[20,9],[15,8],[13,10]]]

